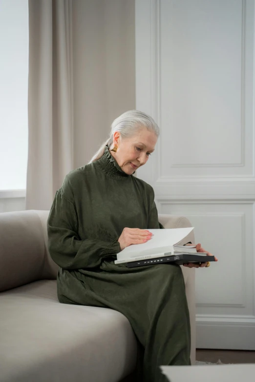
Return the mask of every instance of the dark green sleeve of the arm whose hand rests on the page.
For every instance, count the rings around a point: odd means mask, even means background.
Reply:
[[[121,251],[118,238],[112,242],[81,240],[75,205],[60,191],[56,192],[47,221],[48,250],[51,258],[64,269],[92,268],[103,258]]]

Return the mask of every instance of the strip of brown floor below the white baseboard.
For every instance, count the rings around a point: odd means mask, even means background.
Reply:
[[[196,361],[216,363],[255,363],[255,351],[196,349]]]

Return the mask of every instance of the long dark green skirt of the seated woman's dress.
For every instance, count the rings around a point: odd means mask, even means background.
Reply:
[[[191,327],[185,283],[177,264],[59,269],[62,303],[107,307],[124,314],[138,341],[137,382],[166,382],[160,365],[190,365]]]

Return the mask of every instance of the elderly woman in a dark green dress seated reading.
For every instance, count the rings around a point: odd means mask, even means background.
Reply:
[[[180,266],[114,264],[125,247],[150,240],[149,229],[164,228],[152,187],[133,176],[149,160],[158,136],[145,113],[122,114],[91,161],[65,177],[47,222],[49,253],[60,266],[59,301],[108,307],[127,317],[139,345],[139,382],[165,381],[159,365],[190,364]]]

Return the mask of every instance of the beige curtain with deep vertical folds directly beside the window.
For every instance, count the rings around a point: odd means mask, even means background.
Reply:
[[[26,209],[47,210],[74,168],[72,0],[29,0],[28,4]]]

